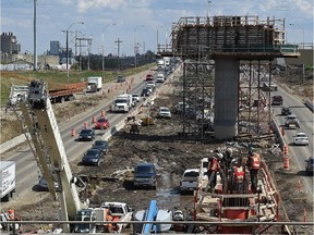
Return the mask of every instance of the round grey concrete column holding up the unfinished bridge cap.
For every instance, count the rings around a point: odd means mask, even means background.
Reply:
[[[238,134],[239,60],[215,60],[215,138],[231,139]]]

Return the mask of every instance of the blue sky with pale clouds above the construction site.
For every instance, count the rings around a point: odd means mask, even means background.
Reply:
[[[65,34],[74,51],[75,32],[92,39],[92,53],[133,54],[133,45],[141,52],[156,52],[159,44],[170,41],[171,25],[184,16],[258,15],[261,20],[286,21],[287,41],[313,44],[313,0],[37,0],[37,54],[49,50],[50,40],[65,48]],[[84,22],[84,24],[76,24]],[[290,25],[293,24],[293,25]],[[1,33],[12,32],[22,52],[34,52],[34,0],[1,0]],[[104,33],[104,37],[102,37]],[[77,49],[78,51],[78,49]],[[87,47],[81,48],[82,53]]]

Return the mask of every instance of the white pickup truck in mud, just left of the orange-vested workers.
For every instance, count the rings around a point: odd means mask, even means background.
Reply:
[[[189,191],[194,191],[197,188],[200,177],[200,169],[186,169],[180,181],[181,195]]]

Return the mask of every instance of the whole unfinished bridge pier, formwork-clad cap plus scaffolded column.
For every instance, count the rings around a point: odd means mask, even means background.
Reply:
[[[300,55],[298,46],[286,45],[285,23],[255,15],[182,17],[172,25],[171,45],[158,45],[159,57],[183,60],[183,102],[206,110],[207,103],[195,97],[215,100],[216,139],[244,135],[254,138],[271,133],[271,91],[263,90],[262,81],[267,77],[270,86],[274,59]],[[204,89],[200,89],[200,84]],[[207,87],[214,87],[214,92]],[[184,136],[210,139],[204,135],[204,126],[208,126],[205,116],[186,122],[189,113],[184,113]],[[195,128],[200,123],[203,127]]]

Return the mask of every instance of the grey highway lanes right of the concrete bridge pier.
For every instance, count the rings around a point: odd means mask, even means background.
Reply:
[[[299,170],[298,175],[304,181],[306,191],[309,191],[310,199],[313,201],[313,176],[305,174],[305,160],[313,156],[313,112],[304,106],[303,101],[295,98],[291,94],[285,91],[279,87],[278,91],[273,95],[280,95],[283,98],[283,106],[290,107],[292,113],[295,114],[300,121],[300,128],[285,129],[283,139],[288,145],[288,154],[295,160]],[[274,115],[279,125],[285,124],[285,116],[280,115],[281,107],[273,106]],[[309,136],[309,146],[293,146],[293,135],[297,132],[305,133]],[[291,163],[290,163],[291,164]]]

